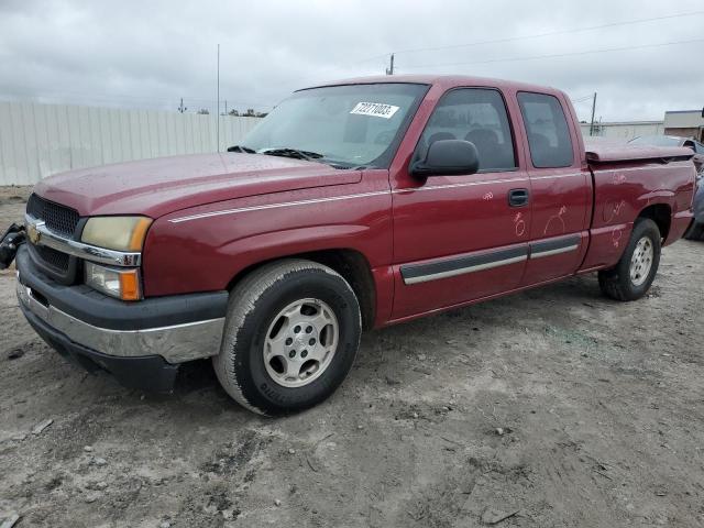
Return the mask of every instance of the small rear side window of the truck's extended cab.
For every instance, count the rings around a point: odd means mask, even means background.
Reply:
[[[574,161],[568,120],[557,97],[518,94],[530,158],[536,168],[569,167]]]

